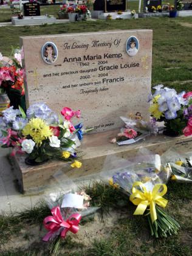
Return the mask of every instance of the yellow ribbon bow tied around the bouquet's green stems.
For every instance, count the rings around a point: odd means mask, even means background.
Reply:
[[[142,190],[135,189],[135,187],[138,186]],[[156,204],[165,208],[168,202],[168,200],[162,198],[162,196],[166,194],[166,191],[167,187],[165,184],[156,184],[154,185],[152,192],[148,192],[142,182],[134,182],[132,185],[132,195],[129,197],[130,201],[137,206],[134,215],[143,215],[146,207],[149,206],[151,220],[154,223],[154,221],[157,220]]]

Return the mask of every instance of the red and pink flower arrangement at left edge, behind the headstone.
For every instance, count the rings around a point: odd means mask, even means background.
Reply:
[[[24,83],[21,59],[23,52],[13,50],[13,57],[8,58],[0,53],[0,106],[1,111],[9,106],[18,108],[24,103]],[[9,97],[9,99],[8,99]]]

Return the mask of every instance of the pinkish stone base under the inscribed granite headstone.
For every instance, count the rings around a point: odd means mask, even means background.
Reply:
[[[18,179],[21,192],[26,194],[40,193],[44,189],[50,188],[54,182],[57,185],[66,176],[70,179],[87,180],[94,176],[103,168],[106,157],[123,157],[128,158],[135,156],[140,148],[146,148],[153,153],[162,154],[170,147],[175,150],[187,152],[192,150],[192,136],[185,137],[167,137],[164,135],[147,137],[140,143],[118,146],[111,144],[109,141],[117,135],[119,130],[105,131],[101,133],[89,134],[84,136],[82,144],[78,150],[82,158],[82,167],[72,168],[70,162],[49,161],[43,165],[30,166],[25,164],[25,157],[15,157],[13,167]]]

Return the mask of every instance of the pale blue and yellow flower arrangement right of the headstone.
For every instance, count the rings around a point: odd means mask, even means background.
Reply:
[[[192,92],[177,94],[175,89],[163,88],[163,85],[154,89],[156,91],[149,97],[149,112],[157,121],[164,121],[164,133],[168,136],[191,135]]]

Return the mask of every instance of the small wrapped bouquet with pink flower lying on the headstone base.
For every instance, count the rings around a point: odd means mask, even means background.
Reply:
[[[111,140],[112,143],[117,142],[118,145],[132,144],[150,134],[157,133],[156,122],[154,123],[153,120],[151,122],[144,121],[140,112],[137,112],[135,116],[130,114],[129,118],[120,117],[120,119],[125,123],[125,128],[122,128],[120,133]]]

